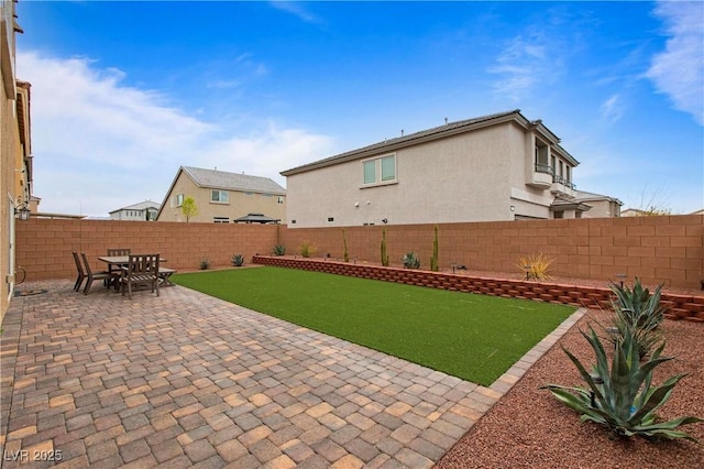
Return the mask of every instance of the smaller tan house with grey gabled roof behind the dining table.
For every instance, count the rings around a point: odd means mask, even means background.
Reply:
[[[286,215],[286,189],[268,177],[182,166],[156,221],[186,221],[182,210],[186,197],[193,197],[198,208],[188,221],[230,223],[248,214],[283,220]]]

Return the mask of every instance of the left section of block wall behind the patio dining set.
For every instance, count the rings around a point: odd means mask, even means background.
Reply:
[[[109,248],[132,253],[160,253],[166,266],[198,270],[207,258],[213,268],[231,265],[232,254],[245,259],[270,252],[277,243],[274,225],[217,225],[117,220],[31,218],[16,223],[16,263],[26,280],[72,279],[76,266],[72,251],[86,252],[95,270]]]

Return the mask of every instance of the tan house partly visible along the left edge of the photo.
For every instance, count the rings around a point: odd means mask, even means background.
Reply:
[[[10,305],[15,282],[14,228],[31,210],[32,131],[31,85],[16,79],[15,2],[0,0],[0,323]]]

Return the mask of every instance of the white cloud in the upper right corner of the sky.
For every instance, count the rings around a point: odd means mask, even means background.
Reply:
[[[654,14],[664,21],[669,39],[646,76],[675,109],[704,126],[704,3],[661,1]]]

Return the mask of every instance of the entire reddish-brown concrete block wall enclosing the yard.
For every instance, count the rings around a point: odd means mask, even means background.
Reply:
[[[382,229],[391,265],[403,266],[408,251],[428,269],[432,252],[432,225],[346,227],[350,258],[380,263]],[[520,272],[518,258],[543,253],[554,259],[556,276],[597,281],[625,273],[632,280],[666,286],[701,288],[704,280],[704,216],[681,215],[632,218],[495,221],[438,225],[439,264],[471,270]],[[28,280],[72,277],[72,251],[97,257],[108,248],[127,247],[158,252],[177,270],[197,270],[202,258],[213,268],[230,265],[234,253],[249,260],[284,244],[288,254],[304,241],[317,248],[316,257],[342,258],[342,228],[288,228],[283,225],[218,225],[61,220],[32,218],[16,222],[16,263]]]

